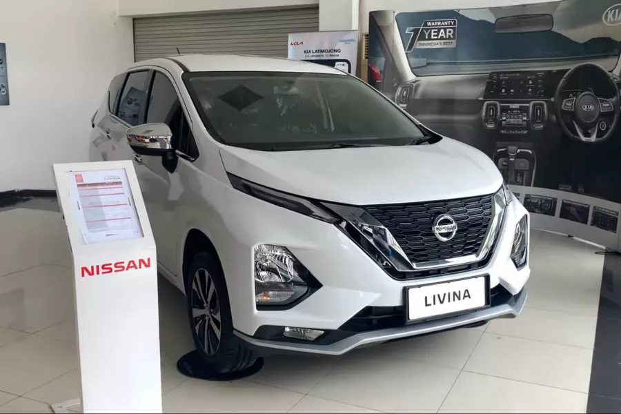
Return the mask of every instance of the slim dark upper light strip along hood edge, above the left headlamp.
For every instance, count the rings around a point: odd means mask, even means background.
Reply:
[[[319,206],[319,204],[311,200],[283,193],[282,191],[273,190],[272,188],[255,184],[233,174],[229,174],[228,179],[230,179],[230,184],[236,190],[258,199],[262,199],[263,201],[274,204],[275,206],[286,208],[287,210],[295,211],[295,213],[314,217],[315,219],[326,221],[328,223],[336,223],[338,221],[337,217],[326,210],[326,208]]]

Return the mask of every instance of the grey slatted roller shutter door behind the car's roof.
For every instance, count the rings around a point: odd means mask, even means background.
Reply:
[[[288,34],[319,30],[319,8],[134,19],[135,60],[191,53],[287,57]]]

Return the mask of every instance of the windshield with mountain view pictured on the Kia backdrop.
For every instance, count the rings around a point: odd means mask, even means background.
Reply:
[[[621,4],[617,3],[566,0],[509,8],[400,12],[395,20],[415,75],[478,73],[499,65],[519,68],[526,62],[532,67],[533,63],[570,61],[566,66],[571,66],[575,61],[594,61],[612,70],[621,52]],[[524,14],[551,15],[552,29],[496,32],[498,18]],[[425,21],[448,31],[435,28],[432,32],[434,28]],[[448,41],[447,34],[452,35]]]

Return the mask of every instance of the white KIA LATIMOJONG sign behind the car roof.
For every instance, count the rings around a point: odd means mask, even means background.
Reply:
[[[357,30],[289,34],[289,59],[311,61],[356,75],[357,57]]]

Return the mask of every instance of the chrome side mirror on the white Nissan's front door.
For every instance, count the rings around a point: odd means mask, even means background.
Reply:
[[[140,155],[164,155],[175,152],[172,148],[172,131],[166,124],[132,126],[126,132],[127,143]]]

